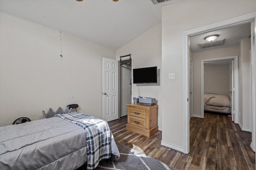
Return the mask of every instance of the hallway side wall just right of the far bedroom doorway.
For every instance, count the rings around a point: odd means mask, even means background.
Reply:
[[[251,131],[250,115],[250,49],[251,39],[242,39],[239,44],[238,70],[239,70],[239,124],[242,130]]]

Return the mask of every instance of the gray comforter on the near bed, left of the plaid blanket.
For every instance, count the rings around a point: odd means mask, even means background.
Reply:
[[[72,170],[86,161],[86,131],[60,117],[0,127],[1,170]]]

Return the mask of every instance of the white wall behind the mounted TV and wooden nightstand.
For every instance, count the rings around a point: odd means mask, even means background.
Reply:
[[[124,45],[116,51],[116,59],[120,56],[133,55],[133,68],[157,66],[158,71],[162,72],[161,55],[161,24],[158,24],[130,43]],[[158,84],[139,85],[140,95],[156,98],[158,104],[158,129],[162,129],[162,101],[161,101],[161,78]],[[133,84],[133,95],[138,97],[138,86]],[[132,96],[133,97],[133,96]]]

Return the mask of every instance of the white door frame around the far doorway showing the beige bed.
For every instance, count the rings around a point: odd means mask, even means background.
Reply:
[[[218,60],[234,60],[234,123],[238,123],[238,56],[220,57],[214,59],[201,60],[201,118],[204,118],[204,62]]]

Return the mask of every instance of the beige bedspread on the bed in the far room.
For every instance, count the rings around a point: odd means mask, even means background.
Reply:
[[[218,94],[204,94],[204,104],[231,107],[230,98],[228,96]]]

